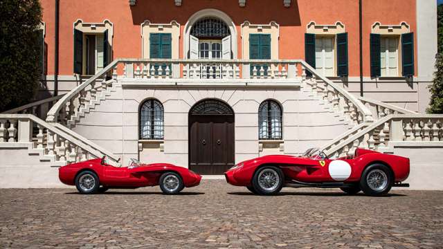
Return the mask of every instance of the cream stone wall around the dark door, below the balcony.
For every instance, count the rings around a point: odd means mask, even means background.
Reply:
[[[138,109],[147,98],[163,104],[165,137],[163,141],[139,146]],[[320,147],[348,128],[329,105],[298,86],[196,88],[123,84],[73,130],[123,156],[123,164],[129,158],[140,158],[145,163],[167,162],[188,167],[188,112],[206,98],[222,100],[235,112],[236,163],[264,154],[297,155],[309,147]],[[258,140],[258,107],[268,99],[279,102],[283,110],[283,140],[278,149],[260,149]]]

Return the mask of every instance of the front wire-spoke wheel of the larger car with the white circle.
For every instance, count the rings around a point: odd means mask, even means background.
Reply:
[[[284,175],[281,169],[265,166],[255,172],[252,185],[257,194],[272,195],[282,190]]]

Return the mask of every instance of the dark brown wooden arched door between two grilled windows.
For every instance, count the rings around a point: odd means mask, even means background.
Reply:
[[[202,100],[189,112],[189,168],[223,174],[234,165],[234,111],[225,102]]]

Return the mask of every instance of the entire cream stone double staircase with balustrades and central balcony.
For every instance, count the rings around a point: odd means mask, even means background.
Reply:
[[[118,164],[119,156],[110,152],[110,147],[89,140],[78,125],[92,118],[94,111],[104,107],[109,98],[119,98],[123,82],[156,86],[201,84],[202,76],[196,68],[214,63],[190,59],[116,59],[66,95],[0,114],[0,145],[26,148],[28,156],[51,166],[101,156],[108,156]],[[247,86],[260,86],[263,82],[269,86],[300,84],[304,98],[315,101],[327,118],[338,124],[339,136],[322,146],[329,156],[352,156],[356,147],[395,153],[395,142],[443,144],[442,116],[428,116],[355,97],[302,60],[221,60],[217,63],[224,65],[224,70],[215,72],[217,76],[206,81]],[[155,64],[167,64],[171,68],[168,66],[166,73],[159,73],[154,69]],[[269,64],[271,70],[250,72],[250,64]]]

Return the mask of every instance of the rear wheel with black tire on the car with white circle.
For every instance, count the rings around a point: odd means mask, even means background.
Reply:
[[[371,187],[370,183],[368,183],[368,176],[370,176],[370,174],[380,176],[381,183]],[[368,194],[369,196],[382,196],[384,194],[388,194],[393,183],[394,176],[390,168],[386,165],[375,163],[373,165],[369,165],[365,168],[365,170],[363,170],[360,179],[360,188],[363,190],[363,193]],[[379,187],[376,188],[378,185]]]

